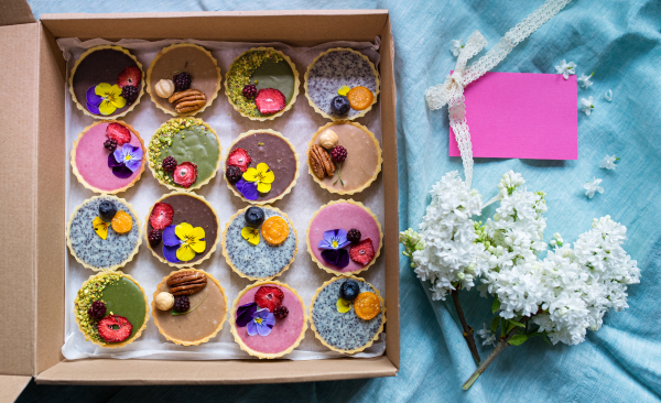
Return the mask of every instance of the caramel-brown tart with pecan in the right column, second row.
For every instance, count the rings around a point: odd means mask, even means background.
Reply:
[[[337,145],[342,145],[347,150],[347,159],[342,165],[335,164],[334,176],[325,176],[321,179],[315,175],[310,164],[310,149],[314,144],[319,145],[319,134],[327,129],[337,134]],[[332,150],[326,151],[330,152]],[[307,145],[307,172],[322,188],[338,195],[353,195],[365,190],[379,176],[382,163],[383,157],[381,156],[379,141],[365,126],[356,122],[327,123],[312,135],[312,140]],[[340,168],[342,182],[337,181],[337,167]]]

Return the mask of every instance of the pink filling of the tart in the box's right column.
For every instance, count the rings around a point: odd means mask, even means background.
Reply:
[[[364,268],[362,264],[349,260],[349,264],[339,269],[336,265],[328,264],[322,257],[322,250],[317,247],[319,241],[324,239],[324,232],[332,229],[344,229],[349,231],[356,228],[360,231],[360,239],[371,239],[375,254],[381,243],[381,233],[375,218],[359,206],[349,203],[339,203],[325,207],[317,214],[310,225],[310,249],[314,257],[325,266],[340,273],[355,272]],[[347,251],[349,247],[345,248]]]

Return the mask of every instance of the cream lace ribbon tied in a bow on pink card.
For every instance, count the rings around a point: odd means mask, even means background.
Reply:
[[[572,0],[546,0],[535,12],[528,15],[517,26],[505,34],[486,55],[466,67],[469,58],[481,52],[487,45],[487,40],[479,31],[475,31],[459,53],[454,72],[445,78],[445,83],[429,88],[425,91],[430,109],[441,109],[447,104],[449,126],[455,133],[462,162],[464,163],[464,175],[466,184],[470,187],[473,181],[473,145],[470,144],[470,132],[466,123],[466,106],[464,104],[464,87],[481,77],[485,73],[496,67],[498,63],[517,46],[530,36],[546,21],[560,12]]]

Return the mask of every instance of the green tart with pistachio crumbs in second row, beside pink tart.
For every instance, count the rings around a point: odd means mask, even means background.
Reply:
[[[209,183],[220,168],[220,140],[212,127],[196,118],[173,118],[161,124],[148,146],[149,168],[171,190],[191,192]],[[163,160],[197,165],[197,179],[188,187],[174,183],[173,172],[163,170]]]

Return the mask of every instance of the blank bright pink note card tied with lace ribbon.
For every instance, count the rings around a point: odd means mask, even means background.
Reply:
[[[578,160],[576,94],[576,76],[486,73],[464,89],[473,156]]]

